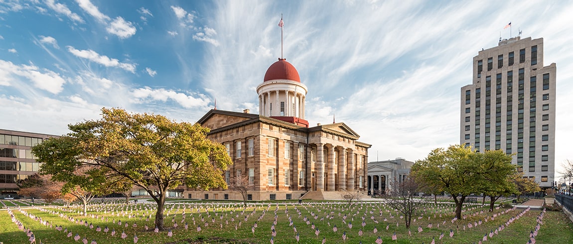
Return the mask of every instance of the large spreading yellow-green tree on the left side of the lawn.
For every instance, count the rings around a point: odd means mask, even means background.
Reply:
[[[222,174],[232,162],[222,144],[207,139],[208,128],[117,108],[101,112],[101,119],[68,125],[67,136],[34,146],[34,155],[44,162],[42,171],[65,179],[79,168],[92,167],[84,177],[88,182],[141,187],[157,203],[160,230],[168,190],[182,185],[226,188]]]

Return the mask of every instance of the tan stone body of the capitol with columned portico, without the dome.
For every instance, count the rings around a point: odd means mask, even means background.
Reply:
[[[227,147],[233,165],[226,178],[249,176],[254,185],[249,192],[252,200],[297,199],[307,191],[366,190],[371,145],[356,141],[359,136],[344,123],[305,128],[271,117],[215,109],[198,123],[211,129],[210,140]],[[183,193],[194,199],[206,195],[209,199],[242,199],[238,192],[222,189],[186,189]]]

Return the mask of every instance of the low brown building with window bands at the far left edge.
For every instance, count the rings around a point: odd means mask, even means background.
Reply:
[[[40,170],[32,146],[54,135],[0,129],[0,193],[16,194],[17,184]]]

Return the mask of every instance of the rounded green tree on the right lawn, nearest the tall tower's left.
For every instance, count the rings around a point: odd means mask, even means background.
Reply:
[[[494,171],[494,163],[484,162],[485,156],[465,145],[451,145],[448,149],[437,148],[427,158],[418,160],[412,167],[414,179],[446,191],[456,203],[456,217],[461,218],[461,209],[466,196],[481,193],[484,184]]]

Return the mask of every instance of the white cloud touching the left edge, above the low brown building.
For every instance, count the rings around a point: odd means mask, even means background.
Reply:
[[[60,93],[65,80],[60,74],[49,69],[40,69],[31,65],[15,65],[10,61],[0,60],[0,85],[14,85],[14,76],[32,81],[34,86],[50,93]],[[15,82],[15,81],[14,81]]]

